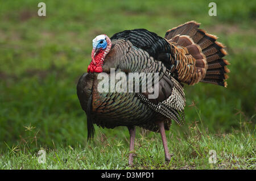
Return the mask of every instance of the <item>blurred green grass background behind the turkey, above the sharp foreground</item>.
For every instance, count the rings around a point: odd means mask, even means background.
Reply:
[[[22,142],[36,131],[37,144],[85,145],[86,117],[76,84],[90,63],[92,39],[106,33],[146,28],[165,32],[189,20],[217,35],[231,63],[228,88],[199,83],[185,86],[188,126],[199,119],[189,107],[195,100],[204,127],[230,132],[241,121],[255,126],[255,1],[0,1],[0,149]],[[185,125],[185,127],[186,127]],[[34,128],[35,127],[35,128]],[[174,128],[183,131],[174,124]],[[96,128],[108,137],[126,137],[126,128]]]

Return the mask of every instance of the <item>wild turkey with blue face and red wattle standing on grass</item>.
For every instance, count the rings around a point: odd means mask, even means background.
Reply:
[[[88,140],[94,127],[125,126],[130,132],[130,150],[134,149],[135,126],[160,132],[166,161],[170,161],[165,130],[171,120],[183,124],[185,94],[182,83],[198,82],[227,86],[229,62],[217,37],[199,29],[200,24],[187,22],[160,37],[145,29],[115,33],[110,39],[99,35],[93,40],[92,62],[77,84],[77,95],[87,115]],[[146,92],[100,92],[99,73],[159,73],[159,96]],[[153,81],[153,84],[156,83]],[[140,79],[140,85],[142,81]],[[133,153],[129,154],[133,165]]]

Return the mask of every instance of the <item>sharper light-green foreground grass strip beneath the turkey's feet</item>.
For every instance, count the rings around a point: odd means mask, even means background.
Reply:
[[[164,161],[164,151],[158,133],[142,130],[135,140],[134,166],[127,164],[129,141],[123,134],[107,137],[100,132],[91,144],[68,145],[67,148],[39,146],[36,130],[24,130],[30,136],[19,145],[1,154],[1,169],[256,169],[255,132],[241,124],[241,129],[230,133],[210,134],[199,120],[187,125],[180,133],[171,128],[167,134],[171,161]],[[33,150],[36,146],[36,150]],[[39,163],[38,150],[46,151],[46,163]],[[210,150],[216,151],[216,163],[209,163]]]

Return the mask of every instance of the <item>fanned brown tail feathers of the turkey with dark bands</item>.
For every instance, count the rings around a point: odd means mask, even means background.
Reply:
[[[207,82],[226,87],[229,62],[222,59],[227,54],[224,45],[216,41],[216,36],[198,29],[199,26],[191,21],[166,32],[165,38],[172,45],[175,61],[178,61],[178,78],[188,85]]]

